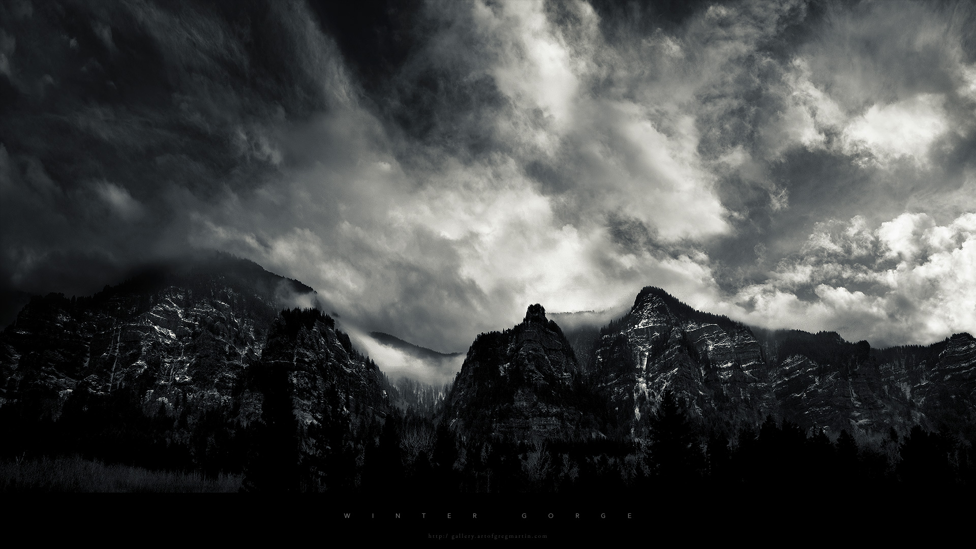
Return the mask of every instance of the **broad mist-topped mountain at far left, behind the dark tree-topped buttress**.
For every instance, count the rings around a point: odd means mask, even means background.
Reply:
[[[138,386],[150,413],[226,405],[261,357],[284,307],[279,295],[303,290],[311,292],[222,257],[141,274],[90,298],[34,298],[3,334],[3,398],[32,393],[55,417],[79,384],[102,395]]]

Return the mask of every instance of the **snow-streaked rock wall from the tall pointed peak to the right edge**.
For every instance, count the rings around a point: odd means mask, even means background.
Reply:
[[[767,414],[807,429],[907,431],[971,422],[976,341],[873,350],[834,332],[755,330],[645,288],[601,331],[590,384],[607,402],[608,432],[643,436],[666,390],[707,426],[755,425]]]

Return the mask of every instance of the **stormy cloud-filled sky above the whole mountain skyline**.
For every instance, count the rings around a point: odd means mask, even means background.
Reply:
[[[219,249],[438,351],[656,285],[976,333],[976,10],[0,4],[0,297]]]

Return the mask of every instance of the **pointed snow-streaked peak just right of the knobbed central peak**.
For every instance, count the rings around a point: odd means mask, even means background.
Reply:
[[[748,327],[658,288],[645,288],[628,315],[602,330],[591,362],[617,436],[643,436],[666,390],[714,421],[759,421],[769,398],[763,349]]]

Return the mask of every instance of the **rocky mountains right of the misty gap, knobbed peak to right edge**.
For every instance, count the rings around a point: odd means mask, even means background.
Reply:
[[[666,392],[703,429],[773,416],[807,432],[972,434],[976,341],[872,349],[834,332],[751,328],[646,287],[624,317],[570,341],[541,305],[471,345],[443,412],[459,433],[648,440]]]

